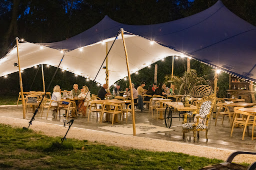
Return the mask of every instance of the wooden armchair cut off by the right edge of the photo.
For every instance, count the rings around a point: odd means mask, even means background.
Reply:
[[[234,107],[234,121],[233,121],[232,129],[231,129],[230,137],[232,137],[232,133],[233,133],[235,124],[237,124],[237,125],[244,126],[243,133],[242,133],[242,140],[244,139],[246,127],[247,127],[247,132],[249,134],[249,126],[252,126],[251,140],[253,140],[253,129],[254,129],[254,125],[255,125],[255,120],[256,120],[255,116],[256,115],[239,110],[241,108],[242,107]],[[238,118],[239,114],[241,115],[241,118]],[[253,120],[250,119],[250,117],[252,117]]]

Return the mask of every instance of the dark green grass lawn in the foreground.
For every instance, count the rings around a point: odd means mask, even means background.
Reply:
[[[0,124],[0,169],[19,170],[197,170],[221,163],[217,159],[173,152],[149,152],[108,147],[87,140],[67,139]]]

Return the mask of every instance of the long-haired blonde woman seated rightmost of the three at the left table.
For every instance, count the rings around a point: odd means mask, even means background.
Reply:
[[[78,111],[78,115],[80,115],[80,113],[82,113],[82,116],[85,116],[87,105],[89,105],[89,103],[87,103],[87,102],[88,102],[88,100],[90,100],[90,91],[86,85],[82,86],[81,93],[78,95],[78,97],[79,98],[86,97],[85,100],[79,100],[78,106],[77,106],[78,109],[80,108]]]

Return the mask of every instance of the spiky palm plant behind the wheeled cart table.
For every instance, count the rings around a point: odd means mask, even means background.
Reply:
[[[165,83],[173,83],[176,85],[176,88],[179,89],[178,94],[189,95],[194,86],[197,85],[209,85],[210,82],[205,80],[204,76],[198,77],[196,71],[191,69],[190,71],[185,71],[182,77],[173,76],[171,80],[171,75],[166,75]]]

